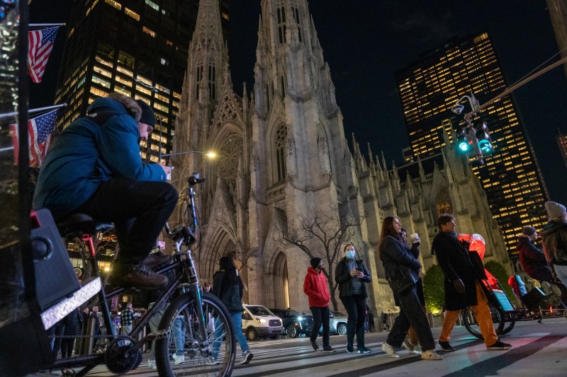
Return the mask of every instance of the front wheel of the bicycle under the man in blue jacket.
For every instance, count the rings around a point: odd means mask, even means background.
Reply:
[[[196,320],[193,294],[182,294],[166,308],[159,330],[167,331],[167,336],[155,342],[159,376],[230,376],[236,356],[236,337],[230,314],[219,298],[206,292],[203,294],[203,313],[205,339],[200,335],[201,325]],[[212,357],[214,342],[220,343],[218,363]],[[179,354],[175,344],[183,344],[182,355],[175,355]]]

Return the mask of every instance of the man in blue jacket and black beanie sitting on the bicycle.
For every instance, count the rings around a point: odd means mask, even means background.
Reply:
[[[120,245],[113,283],[142,289],[168,282],[143,261],[178,198],[166,182],[171,169],[140,157],[140,140],[147,140],[155,123],[152,108],[141,100],[118,93],[96,98],[87,116],[53,141],[33,197],[34,207],[50,209],[57,222],[75,213],[113,222]]]

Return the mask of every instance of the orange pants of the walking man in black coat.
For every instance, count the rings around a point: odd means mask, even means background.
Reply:
[[[498,335],[496,335],[494,330],[492,315],[490,314],[490,308],[488,308],[488,301],[486,300],[483,289],[478,282],[476,282],[476,302],[477,304],[475,306],[471,306],[471,308],[473,308],[474,315],[478,321],[478,327],[481,328],[484,344],[488,347],[498,340]],[[453,327],[455,327],[459,314],[461,314],[461,311],[446,312],[441,334],[439,334],[440,342],[449,342],[449,339],[451,339],[451,331],[453,331]]]

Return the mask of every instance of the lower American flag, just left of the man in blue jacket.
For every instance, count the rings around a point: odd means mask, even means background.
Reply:
[[[40,168],[49,149],[55,127],[57,109],[28,120],[28,145],[30,146],[30,168]],[[18,165],[18,124],[10,124],[10,134],[13,143],[14,165]]]

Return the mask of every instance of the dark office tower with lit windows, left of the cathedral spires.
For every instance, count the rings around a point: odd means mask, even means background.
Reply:
[[[60,124],[85,115],[94,98],[118,92],[150,103],[158,118],[142,157],[171,150],[189,41],[198,0],[74,1],[56,103],[67,103]],[[220,1],[228,35],[228,0]]]

